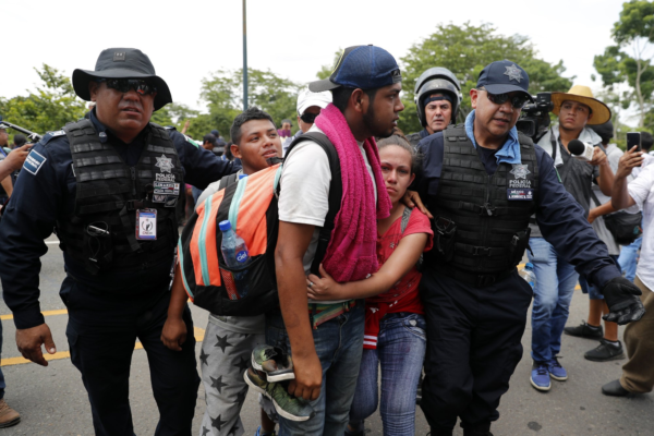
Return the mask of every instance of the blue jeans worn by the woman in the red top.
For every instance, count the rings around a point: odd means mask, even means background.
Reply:
[[[415,435],[415,393],[425,358],[425,318],[414,313],[388,314],[379,324],[376,350],[363,350],[350,426],[363,431],[363,421],[378,403],[382,366],[382,422],[385,436]]]

